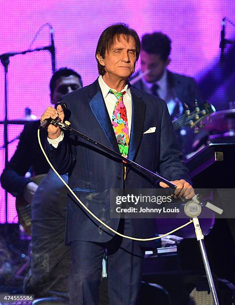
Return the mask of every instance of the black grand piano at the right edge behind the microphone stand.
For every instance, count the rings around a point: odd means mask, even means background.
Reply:
[[[235,188],[235,144],[210,144],[187,161],[194,188]],[[184,219],[184,222],[187,222]],[[203,226],[203,222],[205,226]],[[182,220],[180,224],[182,224]],[[211,269],[220,294],[221,304],[232,304],[235,284],[235,219],[202,219],[200,221]],[[161,221],[160,233],[176,227],[175,220]],[[159,232],[159,228],[156,228]],[[193,233],[193,234],[192,234]],[[194,227],[189,225],[176,235],[184,237],[177,246],[157,249],[146,254],[143,281],[161,285],[169,293],[170,301],[162,304],[188,304],[194,287],[207,290],[208,284]],[[190,237],[190,238],[189,238]],[[224,279],[224,280],[218,280]],[[227,281],[228,280],[228,281]],[[221,288],[222,285],[222,288]],[[235,296],[234,296],[235,297]],[[228,303],[226,303],[228,302]],[[154,304],[154,303],[153,303]],[[157,303],[156,303],[157,304]]]

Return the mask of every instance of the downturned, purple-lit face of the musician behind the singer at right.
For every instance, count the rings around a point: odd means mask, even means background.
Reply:
[[[145,81],[148,83],[158,81],[169,63],[169,59],[164,61],[159,54],[151,54],[143,50],[140,52],[141,71],[145,72],[150,70],[150,72],[144,76]]]

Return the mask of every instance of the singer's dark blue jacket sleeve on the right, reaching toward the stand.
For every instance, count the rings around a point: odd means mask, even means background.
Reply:
[[[185,179],[191,183],[189,170],[182,160],[182,152],[165,103],[161,121],[159,171],[168,180]]]

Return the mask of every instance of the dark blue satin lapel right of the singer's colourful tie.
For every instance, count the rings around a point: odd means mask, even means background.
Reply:
[[[132,97],[132,118],[131,118],[128,159],[133,161],[136,152],[138,151],[140,141],[143,135],[143,125],[144,125],[146,105],[142,100],[142,96],[137,94],[133,87],[131,87],[130,90]]]

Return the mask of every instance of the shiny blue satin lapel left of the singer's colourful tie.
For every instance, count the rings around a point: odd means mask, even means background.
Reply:
[[[94,96],[94,92],[91,92],[92,99],[90,101],[91,110],[99,122],[102,130],[104,131],[109,143],[111,144],[114,151],[119,152],[117,140],[113,130],[113,126],[107,111],[103,95],[100,90],[100,86],[97,81],[97,90]]]

